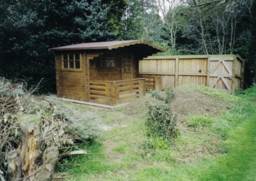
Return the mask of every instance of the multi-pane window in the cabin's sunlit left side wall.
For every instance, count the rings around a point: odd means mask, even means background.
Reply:
[[[64,69],[80,69],[80,53],[69,52],[63,53],[62,62]]]

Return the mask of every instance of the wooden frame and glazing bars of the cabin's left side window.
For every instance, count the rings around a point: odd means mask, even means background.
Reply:
[[[70,54],[73,54],[73,59],[70,59]],[[76,54],[79,54],[79,59],[76,59]],[[64,55],[67,57],[67,59],[64,59]],[[67,68],[64,67],[64,62],[67,62]],[[74,68],[70,68],[71,62],[73,62]],[[79,68],[76,68],[77,62],[79,62]],[[61,70],[81,72],[81,52],[63,52],[61,54]]]

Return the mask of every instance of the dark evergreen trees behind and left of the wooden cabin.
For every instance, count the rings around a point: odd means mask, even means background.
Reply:
[[[122,11],[109,11],[114,2],[1,0],[0,77],[24,79],[30,87],[43,78],[40,91],[56,91],[54,57],[48,49],[116,39],[119,26],[107,23],[107,17],[121,18]],[[120,2],[119,7],[124,6]]]

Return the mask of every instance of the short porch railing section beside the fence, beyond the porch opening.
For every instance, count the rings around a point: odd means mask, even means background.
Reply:
[[[160,76],[140,75],[145,78],[146,90],[162,90],[162,78]]]

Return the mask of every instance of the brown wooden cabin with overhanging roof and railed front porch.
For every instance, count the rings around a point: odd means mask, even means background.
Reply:
[[[49,50],[55,53],[57,97],[107,105],[144,96],[139,60],[165,51],[143,40],[81,43]]]

